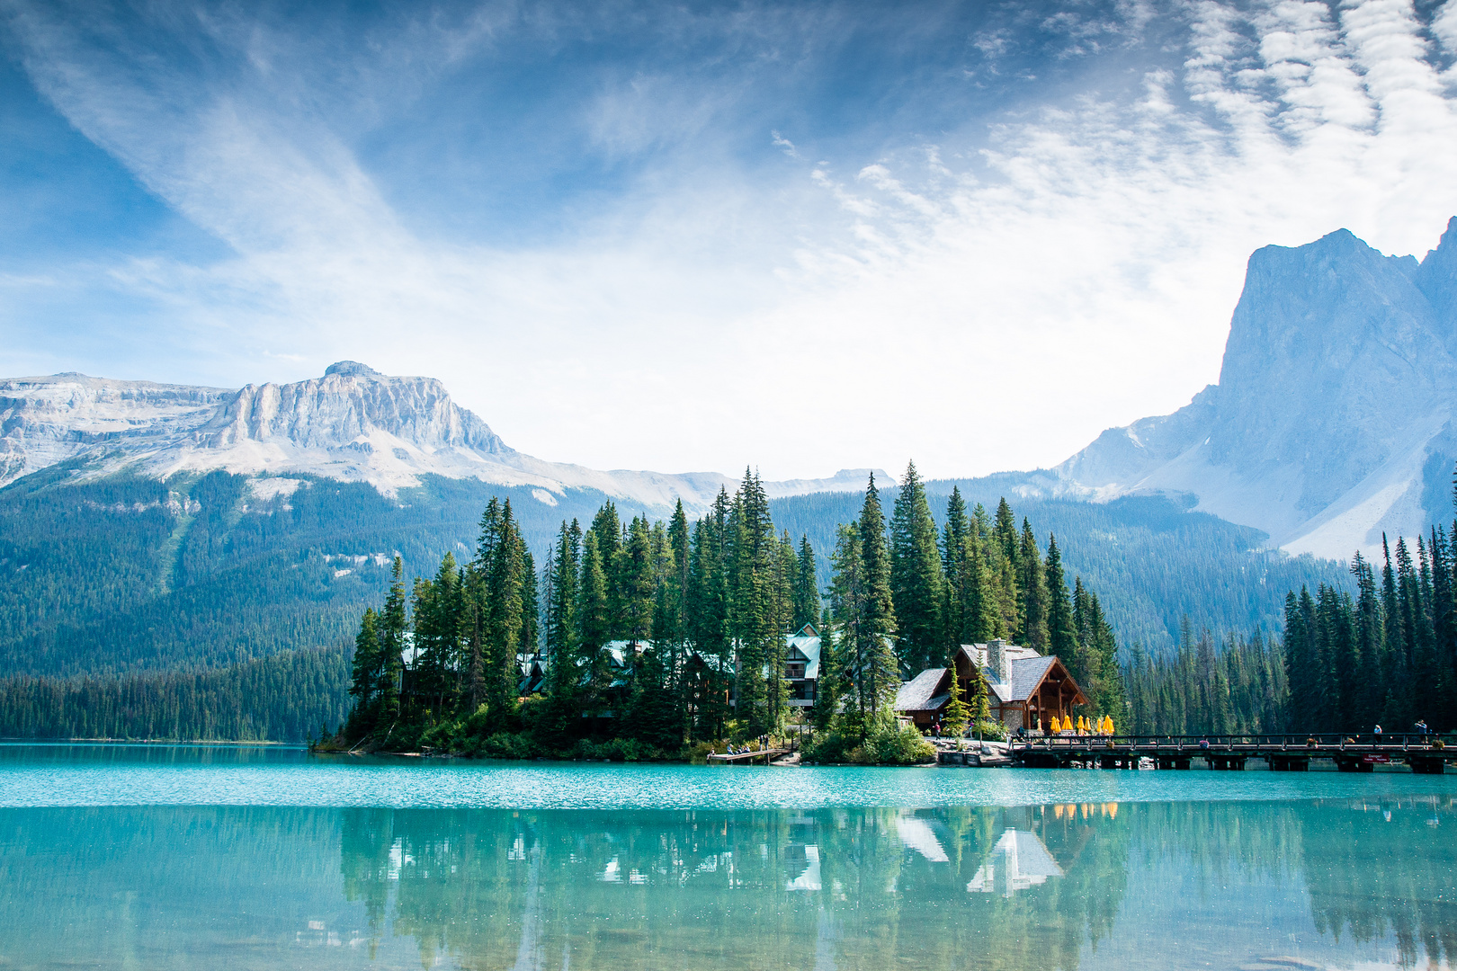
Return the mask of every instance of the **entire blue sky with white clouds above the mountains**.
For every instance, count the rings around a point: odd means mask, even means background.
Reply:
[[[973,476],[1457,215],[1457,0],[0,0],[0,374],[425,374],[507,444]]]

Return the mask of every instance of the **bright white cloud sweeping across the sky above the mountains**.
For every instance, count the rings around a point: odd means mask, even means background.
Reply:
[[[1454,7],[1432,28],[1448,55]],[[679,153],[574,239],[516,250],[407,229],[294,95],[189,89],[28,9],[15,22],[73,124],[236,252],[112,268],[163,307],[172,367],[208,345],[230,348],[208,367],[235,381],[356,358],[441,377],[542,457],[787,477],[1059,461],[1217,380],[1254,247],[1339,227],[1387,252],[1434,243],[1457,214],[1457,118],[1410,3],[1192,0],[1182,16],[1183,66],[1145,71],[1135,100],[1088,93],[989,135],[967,119],[814,166],[774,132],[787,159],[768,181]],[[265,41],[249,35],[251,70],[280,79],[288,58]],[[728,96],[638,79],[602,95],[593,131],[622,153],[664,127],[721,140]]]

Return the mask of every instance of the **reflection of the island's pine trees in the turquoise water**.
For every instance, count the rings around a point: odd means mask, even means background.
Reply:
[[[427,965],[449,954],[482,968],[1050,971],[1077,967],[1110,929],[1126,820],[1100,808],[358,809],[344,812],[341,847],[345,892],[373,932],[388,917]],[[1064,876],[1007,892],[997,847],[1008,831],[1024,834],[1024,866],[1045,866],[1029,862],[1045,847]],[[967,889],[988,860],[1002,868],[995,892]]]

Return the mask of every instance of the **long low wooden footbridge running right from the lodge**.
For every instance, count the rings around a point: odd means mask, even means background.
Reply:
[[[1138,769],[1144,758],[1158,769],[1189,769],[1202,758],[1211,769],[1241,770],[1263,758],[1273,772],[1308,772],[1313,758],[1329,758],[1340,772],[1374,772],[1407,764],[1440,776],[1457,758],[1432,735],[1050,735],[1014,738],[1014,766],[1027,769]]]

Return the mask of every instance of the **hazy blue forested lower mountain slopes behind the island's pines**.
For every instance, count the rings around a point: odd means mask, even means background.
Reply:
[[[71,473],[63,464],[0,491],[0,675],[210,668],[344,645],[363,606],[383,597],[389,558],[401,553],[412,572],[433,571],[444,552],[468,558],[492,495],[511,501],[538,565],[562,518],[586,524],[609,498],[567,489],[548,507],[529,488],[441,476],[385,496],[310,476],[270,495],[259,482],[280,480],[224,472],[166,483]],[[950,486],[928,485],[937,515]],[[995,507],[985,480],[962,488]],[[781,498],[772,515],[823,556],[857,502]],[[1169,643],[1183,613],[1217,630],[1275,630],[1285,590],[1345,582],[1335,563],[1260,550],[1254,530],[1163,498],[1014,505],[1039,542],[1058,534],[1068,569],[1101,591],[1125,642]]]

